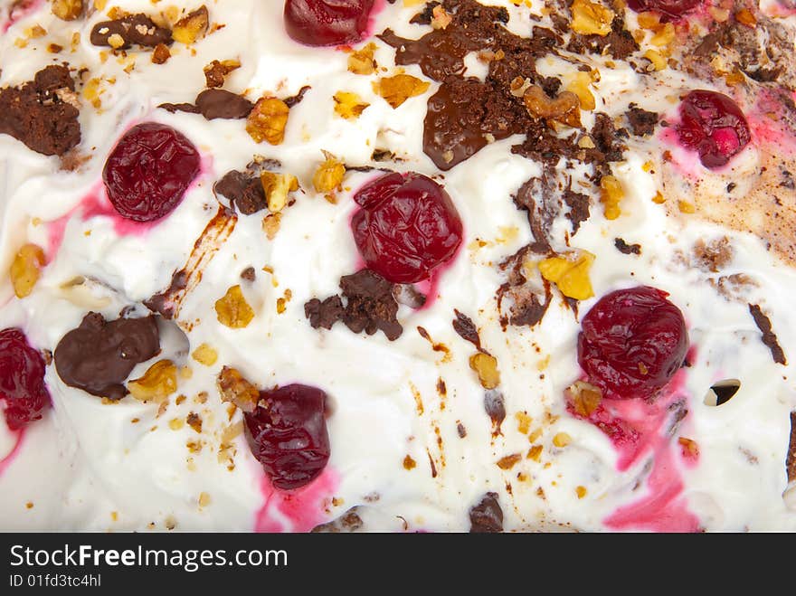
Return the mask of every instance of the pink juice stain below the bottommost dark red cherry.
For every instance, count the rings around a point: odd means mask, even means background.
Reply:
[[[327,521],[324,508],[339,485],[336,472],[326,468],[305,487],[283,491],[263,476],[260,490],[264,499],[257,512],[254,530],[262,533],[309,532]]]

